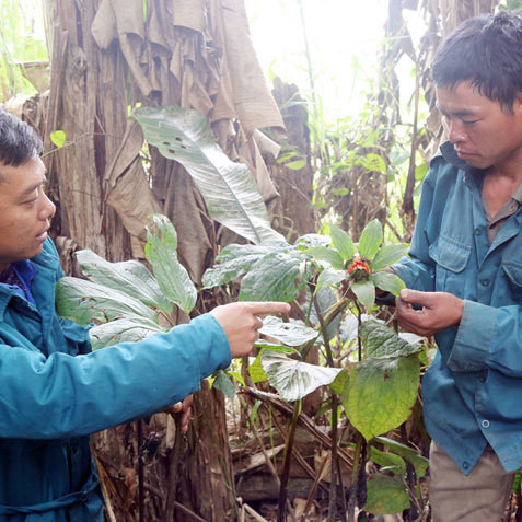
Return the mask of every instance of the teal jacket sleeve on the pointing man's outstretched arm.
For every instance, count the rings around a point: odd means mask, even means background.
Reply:
[[[77,357],[0,345],[0,437],[83,436],[152,415],[231,360],[210,314],[139,343]]]

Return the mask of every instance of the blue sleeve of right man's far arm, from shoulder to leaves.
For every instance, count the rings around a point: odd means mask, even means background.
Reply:
[[[422,184],[417,224],[408,252],[409,257],[403,257],[392,266],[407,288],[425,292],[434,290],[434,262],[429,256],[430,240],[427,228],[433,209],[436,179],[437,170],[431,166]]]

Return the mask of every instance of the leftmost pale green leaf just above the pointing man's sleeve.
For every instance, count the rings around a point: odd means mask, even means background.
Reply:
[[[59,315],[79,324],[107,323],[128,316],[158,323],[156,313],[138,299],[76,277],[65,277],[58,281],[56,309]]]

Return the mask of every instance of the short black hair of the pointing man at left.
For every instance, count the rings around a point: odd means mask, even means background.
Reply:
[[[0,109],[0,163],[20,166],[42,154],[44,144],[32,127]]]

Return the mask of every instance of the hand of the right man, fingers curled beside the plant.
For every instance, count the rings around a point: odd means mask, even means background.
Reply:
[[[422,306],[414,310],[413,305]],[[407,332],[430,337],[450,326],[459,324],[464,301],[446,292],[418,292],[401,290],[396,300],[398,324]]]

